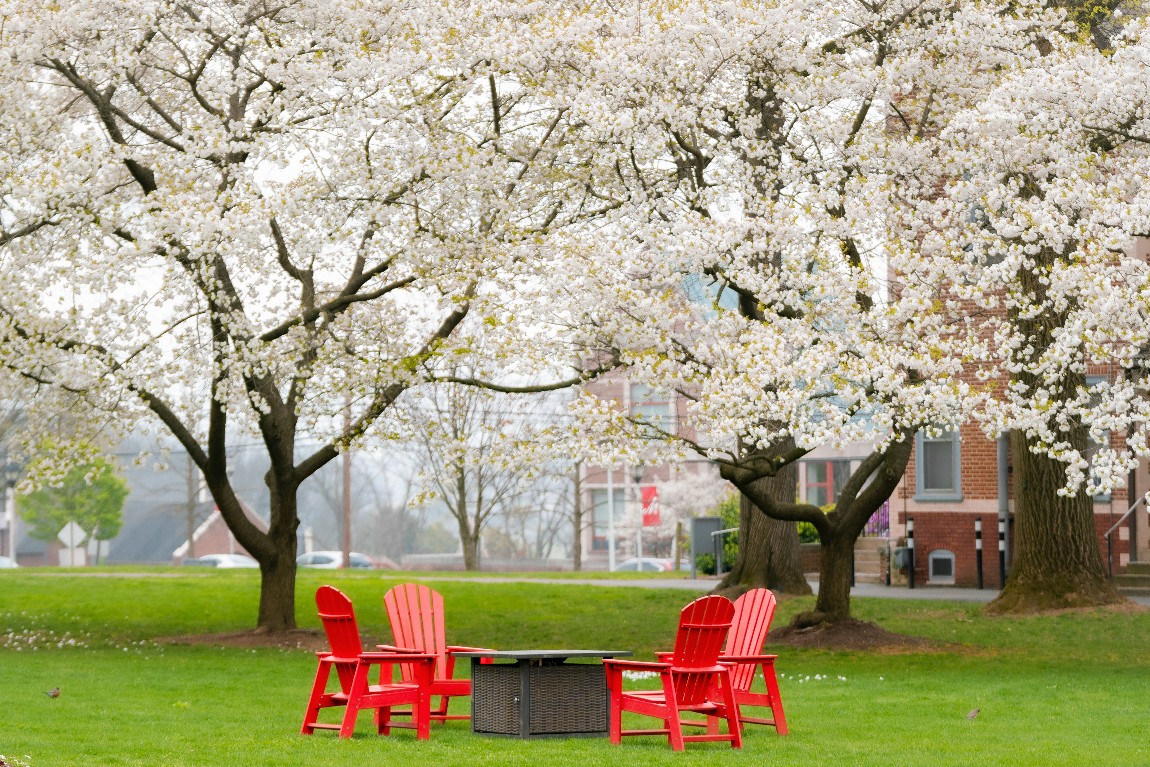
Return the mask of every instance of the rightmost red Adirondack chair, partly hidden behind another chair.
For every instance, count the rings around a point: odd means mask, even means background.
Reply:
[[[783,699],[779,695],[779,680],[775,677],[775,659],[779,655],[761,654],[774,615],[775,595],[769,589],[751,589],[736,599],[735,618],[719,661],[730,665],[730,684],[739,705],[738,721],[768,724],[779,735],[787,735],[787,716],[783,714]],[[751,692],[754,673],[760,668],[767,691]],[[772,718],[747,716],[743,706],[766,706],[770,708]],[[716,721],[711,722],[712,729],[716,726]]]

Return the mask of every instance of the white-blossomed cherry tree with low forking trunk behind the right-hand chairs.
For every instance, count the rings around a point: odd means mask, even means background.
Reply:
[[[854,540],[914,435],[963,422],[980,396],[971,333],[936,300],[953,274],[887,283],[891,240],[918,247],[891,233],[896,212],[937,197],[942,129],[1037,57],[1060,17],[1028,2],[611,7],[630,30],[618,21],[577,64],[604,94],[580,115],[629,190],[614,225],[645,250],[623,256],[636,296],[596,338],[688,398],[691,428],[585,414],[636,440],[629,463],[662,437],[767,515],[814,524],[819,597],[796,623],[846,622]],[[851,442],[873,450],[833,514],[764,491],[813,447]]]

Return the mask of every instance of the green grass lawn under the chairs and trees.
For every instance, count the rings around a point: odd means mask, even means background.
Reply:
[[[780,650],[791,734],[747,729],[742,751],[665,738],[513,741],[467,722],[374,735],[298,734],[315,669],[299,650],[158,644],[250,628],[258,575],[98,570],[0,573],[0,754],[33,767],[117,765],[1148,765],[1150,613],[988,619],[959,603],[857,600],[859,618],[946,646],[930,653]],[[299,619],[317,627],[323,582],[355,600],[361,630],[388,639],[381,597],[401,574],[304,573]],[[424,580],[420,575],[421,580]],[[632,650],[670,642],[693,595],[674,589],[427,578],[450,639],[493,647]],[[808,599],[784,600],[776,624]],[[637,683],[642,684],[642,683]],[[45,690],[59,687],[59,698]],[[967,712],[979,708],[973,721]],[[460,708],[466,710],[466,704]]]

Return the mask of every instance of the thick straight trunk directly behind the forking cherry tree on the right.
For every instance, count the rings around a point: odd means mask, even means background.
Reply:
[[[775,476],[762,477],[756,484],[779,503],[792,503],[798,486],[798,466],[790,463]],[[739,494],[738,508],[738,554],[715,592],[733,599],[758,588],[796,596],[811,593],[811,584],[803,576],[795,522],[767,516],[744,493]]]

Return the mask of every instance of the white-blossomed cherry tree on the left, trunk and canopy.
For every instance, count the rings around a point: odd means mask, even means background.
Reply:
[[[386,436],[438,358],[570,359],[523,328],[586,271],[550,232],[611,202],[540,85],[540,18],[0,2],[0,365],[108,414],[89,430],[178,439],[260,562],[263,630],[296,624],[300,484]],[[228,477],[237,434],[267,451],[267,532]]]

